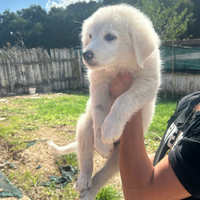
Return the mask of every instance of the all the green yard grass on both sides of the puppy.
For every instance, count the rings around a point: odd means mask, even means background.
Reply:
[[[89,98],[88,95],[75,94],[49,94],[39,97],[41,98],[30,99],[22,96],[10,98],[8,103],[0,102],[0,118],[6,118],[6,120],[0,121],[0,141],[2,147],[4,146],[8,150],[8,158],[6,159],[10,161],[13,161],[13,155],[16,152],[26,149],[27,143],[24,143],[25,141],[41,139],[42,132],[44,132],[43,137],[48,134],[52,137],[55,135],[61,142],[62,140],[73,140],[78,117],[85,111],[86,102]],[[166,129],[167,120],[176,108],[176,102],[177,100],[173,99],[160,99],[157,102],[155,116],[148,134],[145,135],[145,144],[149,153],[155,152],[157,149],[160,138]],[[62,165],[78,166],[76,154],[60,156],[57,161],[58,164]],[[23,164],[22,159],[19,160],[18,165],[19,169],[5,168],[4,173],[32,199],[78,199],[78,194],[73,189],[75,180],[60,190],[54,187],[37,186],[39,182],[48,180],[48,173],[51,175],[58,174],[58,166],[47,173],[43,168],[42,170],[31,171],[30,167],[27,167],[27,163]],[[122,199],[121,193],[112,185],[103,188],[96,197],[96,200],[111,199]]]

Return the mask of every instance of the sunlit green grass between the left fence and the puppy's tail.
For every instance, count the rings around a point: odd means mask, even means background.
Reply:
[[[6,121],[0,123],[0,138],[19,150],[23,141],[33,140],[27,131],[39,129],[40,125],[75,126],[78,117],[85,110],[88,95],[68,95],[57,98],[14,99],[0,104],[0,116]]]

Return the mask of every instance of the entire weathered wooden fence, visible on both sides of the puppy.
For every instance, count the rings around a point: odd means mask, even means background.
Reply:
[[[70,49],[0,50],[0,96],[88,87],[80,52]],[[185,95],[200,90],[200,74],[163,73],[160,93]]]

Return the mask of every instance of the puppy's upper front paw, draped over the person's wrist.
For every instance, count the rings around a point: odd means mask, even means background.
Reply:
[[[102,141],[104,144],[111,144],[120,139],[123,128],[119,123],[114,122],[114,120],[105,120],[101,128]]]

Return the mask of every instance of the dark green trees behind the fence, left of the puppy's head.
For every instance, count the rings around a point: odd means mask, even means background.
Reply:
[[[99,7],[94,1],[69,5],[66,9],[53,7],[47,13],[32,5],[17,13],[6,10],[0,15],[0,48],[10,42],[15,45],[18,32],[28,48],[71,48],[80,46],[81,24]]]

